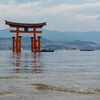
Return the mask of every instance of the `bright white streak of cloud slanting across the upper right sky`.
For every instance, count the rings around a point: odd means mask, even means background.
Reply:
[[[86,4],[61,4],[58,6],[53,6],[46,8],[46,10],[49,12],[62,12],[62,11],[78,11],[78,10],[86,10],[86,8],[95,9],[98,7],[100,8],[100,2],[97,3],[86,3]],[[92,11],[92,10],[91,10]]]

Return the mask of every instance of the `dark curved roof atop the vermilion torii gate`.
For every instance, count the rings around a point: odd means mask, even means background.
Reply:
[[[44,23],[16,23],[16,22],[10,22],[10,21],[5,20],[5,24],[11,27],[33,28],[33,27],[43,27],[46,25],[46,22]]]

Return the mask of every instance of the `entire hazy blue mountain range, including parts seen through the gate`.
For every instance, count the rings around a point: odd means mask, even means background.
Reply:
[[[91,32],[59,32],[59,31],[51,31],[42,29],[43,34],[41,35],[43,38],[47,40],[66,40],[66,41],[73,41],[73,40],[81,40],[81,41],[92,41],[100,43],[100,32],[91,31]],[[25,33],[20,34],[24,37],[31,37],[33,34]],[[10,33],[10,29],[3,29],[0,30],[0,37],[8,38],[15,36],[15,33]]]

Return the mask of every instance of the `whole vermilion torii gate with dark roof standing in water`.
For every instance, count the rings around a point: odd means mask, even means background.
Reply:
[[[16,33],[16,37],[13,38],[13,46],[12,50],[13,52],[21,52],[21,36],[19,36],[19,33],[33,33],[33,37],[31,37],[31,51],[34,52],[35,50],[41,49],[41,41],[40,36],[36,36],[36,33],[42,33],[42,31],[37,31],[38,28],[42,28],[46,25],[46,22],[44,23],[15,23],[5,20],[5,24],[9,25],[11,28],[16,28],[16,30],[10,30],[12,33]],[[20,30],[20,28],[23,28],[24,31]],[[32,31],[29,31],[28,29],[31,28]],[[38,38],[38,39],[37,39]]]

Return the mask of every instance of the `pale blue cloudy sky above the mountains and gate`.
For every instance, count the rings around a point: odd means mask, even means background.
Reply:
[[[0,29],[4,20],[47,22],[56,31],[100,31],[100,0],[0,0]]]

